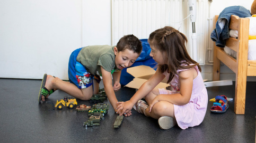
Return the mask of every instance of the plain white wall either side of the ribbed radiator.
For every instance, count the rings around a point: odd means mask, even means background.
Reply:
[[[210,15],[252,2],[213,0]],[[1,0],[0,20],[0,78],[67,79],[72,51],[111,45],[111,0]]]

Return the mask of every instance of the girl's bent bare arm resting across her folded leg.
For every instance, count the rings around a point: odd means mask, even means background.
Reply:
[[[197,75],[197,71],[195,68],[180,72],[179,73],[180,93],[160,94],[156,96],[152,101],[151,105],[149,106],[149,111],[151,111],[154,104],[158,101],[167,101],[172,104],[176,104],[180,106],[187,104],[191,98],[193,79],[195,79],[195,72]]]

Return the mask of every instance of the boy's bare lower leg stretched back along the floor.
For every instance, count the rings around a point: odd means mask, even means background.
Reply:
[[[70,96],[73,96],[81,100],[89,100],[93,94],[92,86],[87,87],[85,89],[79,89],[76,87],[75,84],[67,81],[63,81],[59,78],[54,78],[51,75],[47,75],[45,87],[48,90],[51,90],[51,89],[62,90],[68,93]],[[42,96],[42,101],[44,100],[45,100],[45,97]]]

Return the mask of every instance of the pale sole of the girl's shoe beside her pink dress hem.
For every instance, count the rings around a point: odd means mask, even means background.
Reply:
[[[176,120],[169,116],[162,116],[158,119],[158,125],[161,129],[167,130],[176,125]]]

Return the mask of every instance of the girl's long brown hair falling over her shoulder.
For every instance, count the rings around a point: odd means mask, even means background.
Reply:
[[[166,70],[170,72],[167,83],[171,82],[175,74],[178,74],[178,69],[190,69],[197,65],[201,72],[199,63],[192,60],[187,52],[187,42],[188,39],[183,33],[170,26],[160,28],[149,35],[148,43],[154,45],[156,49],[164,52],[167,56],[168,64],[157,65],[161,73]]]

